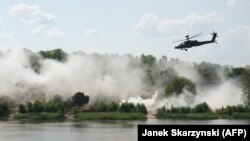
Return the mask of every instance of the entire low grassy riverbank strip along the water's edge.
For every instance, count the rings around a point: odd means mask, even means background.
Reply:
[[[27,121],[98,121],[98,120],[147,120],[147,119],[173,119],[173,120],[213,120],[213,119],[250,119],[250,113],[232,113],[220,115],[217,113],[165,113],[162,115],[145,115],[142,113],[125,112],[82,112],[73,114],[59,113],[16,113],[2,120],[27,120]]]

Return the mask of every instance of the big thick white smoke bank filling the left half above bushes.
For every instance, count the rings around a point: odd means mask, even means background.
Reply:
[[[72,54],[68,61],[45,59],[35,73],[23,50],[2,51],[0,57],[0,95],[25,98],[30,93],[71,97],[83,91],[96,96],[127,98],[141,92],[143,72],[131,68],[128,56]]]

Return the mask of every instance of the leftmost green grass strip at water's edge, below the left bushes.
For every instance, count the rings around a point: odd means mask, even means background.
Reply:
[[[32,121],[59,121],[64,117],[59,113],[17,113],[13,117],[16,120],[32,120]]]

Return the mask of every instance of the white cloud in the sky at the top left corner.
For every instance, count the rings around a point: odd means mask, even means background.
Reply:
[[[29,24],[52,23],[55,19],[54,15],[43,12],[38,5],[14,5],[10,8],[9,13],[21,22]]]

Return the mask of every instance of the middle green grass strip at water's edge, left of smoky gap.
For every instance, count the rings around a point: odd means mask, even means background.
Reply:
[[[147,119],[142,113],[123,112],[84,112],[75,116],[76,120],[144,120]]]

